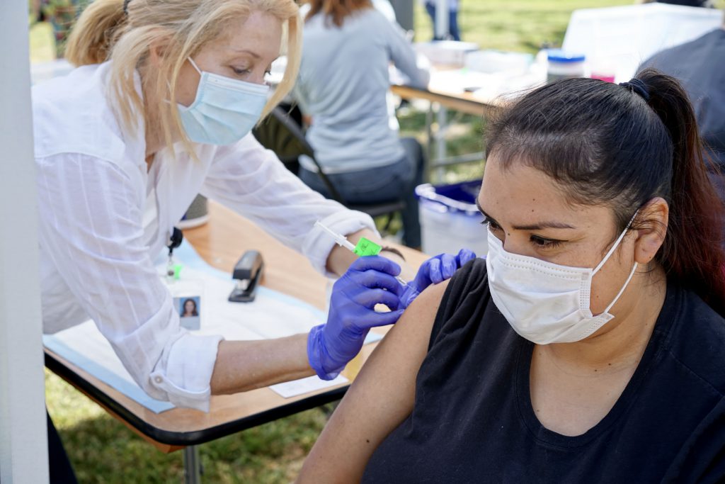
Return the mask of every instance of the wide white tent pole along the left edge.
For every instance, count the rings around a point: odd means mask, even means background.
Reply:
[[[47,483],[28,0],[0,15],[0,481]]]

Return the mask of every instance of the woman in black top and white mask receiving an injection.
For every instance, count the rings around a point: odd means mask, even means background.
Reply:
[[[723,482],[724,207],[696,126],[655,70],[502,113],[486,260],[410,306],[300,481]]]

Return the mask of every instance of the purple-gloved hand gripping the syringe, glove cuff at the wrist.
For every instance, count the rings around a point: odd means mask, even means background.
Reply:
[[[363,348],[370,328],[399,319],[404,287],[394,277],[398,274],[397,263],[373,255],[357,259],[335,282],[327,324],[312,328],[307,337],[307,358],[320,378],[336,377]],[[376,304],[390,312],[376,313]]]

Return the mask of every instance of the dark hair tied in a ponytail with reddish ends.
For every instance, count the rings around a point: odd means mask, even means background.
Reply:
[[[675,78],[647,69],[635,79],[567,79],[531,91],[489,124],[487,155],[547,173],[575,203],[612,208],[618,231],[663,197],[670,213],[655,261],[725,316],[725,205],[708,178],[695,112]],[[646,223],[638,217],[634,227]]]

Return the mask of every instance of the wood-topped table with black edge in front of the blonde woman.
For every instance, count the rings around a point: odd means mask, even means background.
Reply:
[[[206,225],[184,231],[184,237],[204,261],[228,271],[231,276],[231,268],[245,250],[260,250],[265,258],[263,286],[325,309],[327,279],[318,274],[306,258],[215,202],[210,202],[209,211],[210,221]],[[413,267],[426,259],[418,251],[407,247],[399,249]],[[376,331],[385,332],[386,328]],[[351,382],[355,380],[362,362],[374,348],[374,344],[363,346],[360,357],[342,374]],[[50,350],[46,350],[46,366],[159,450],[171,452],[186,448],[187,482],[198,480],[198,457],[194,447],[197,444],[336,401],[349,387],[349,384],[337,385],[292,398],[283,398],[264,387],[234,395],[212,396],[209,413],[175,408],[156,414]]]

